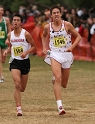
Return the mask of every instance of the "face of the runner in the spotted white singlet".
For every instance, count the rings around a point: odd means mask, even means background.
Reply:
[[[52,15],[51,18],[53,19],[53,21],[59,21],[61,19],[61,13],[60,10],[55,8],[52,10]]]

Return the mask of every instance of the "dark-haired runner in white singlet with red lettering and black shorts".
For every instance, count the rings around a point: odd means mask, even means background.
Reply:
[[[12,19],[14,30],[8,34],[9,47],[4,56],[10,52],[10,71],[15,84],[14,98],[17,106],[17,116],[22,116],[21,92],[25,91],[30,71],[29,54],[35,50],[34,41],[29,32],[21,27],[22,17],[15,14]]]

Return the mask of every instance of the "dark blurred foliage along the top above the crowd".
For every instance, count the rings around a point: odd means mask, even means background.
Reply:
[[[20,5],[28,6],[30,3],[38,5],[38,8],[50,8],[52,5],[60,4],[68,6],[70,8],[91,8],[95,6],[94,0],[2,0],[2,4],[5,9],[10,9],[12,12],[17,12]]]

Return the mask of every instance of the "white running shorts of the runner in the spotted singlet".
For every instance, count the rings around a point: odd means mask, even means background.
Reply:
[[[51,59],[54,59],[61,63],[62,68],[70,68],[71,64],[73,63],[73,58],[72,52],[48,51],[44,61],[51,65]]]

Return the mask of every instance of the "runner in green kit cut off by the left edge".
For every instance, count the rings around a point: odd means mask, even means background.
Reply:
[[[2,74],[2,63],[5,63],[6,56],[3,56],[7,45],[5,41],[7,39],[7,33],[11,31],[10,20],[7,17],[3,16],[4,7],[0,5],[0,83],[4,82],[4,77]]]

